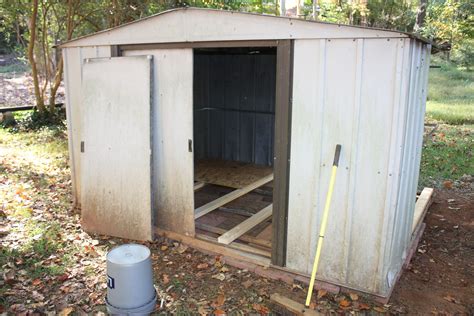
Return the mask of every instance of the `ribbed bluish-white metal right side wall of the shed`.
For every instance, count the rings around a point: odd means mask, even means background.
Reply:
[[[400,183],[383,273],[387,276],[388,287],[392,287],[396,281],[413,237],[412,223],[423,145],[430,50],[429,45],[410,41],[410,74],[406,97],[408,107],[403,128]]]

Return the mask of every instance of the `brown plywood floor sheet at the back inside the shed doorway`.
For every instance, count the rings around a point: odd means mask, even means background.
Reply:
[[[236,161],[201,160],[195,163],[194,180],[241,189],[272,172],[272,167]]]

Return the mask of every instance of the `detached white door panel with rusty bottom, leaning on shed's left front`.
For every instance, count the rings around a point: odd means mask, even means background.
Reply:
[[[83,66],[81,204],[88,232],[153,239],[151,61],[95,58]]]

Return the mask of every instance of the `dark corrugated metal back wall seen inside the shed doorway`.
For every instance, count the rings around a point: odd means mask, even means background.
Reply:
[[[195,53],[195,159],[273,163],[275,76],[274,51]]]

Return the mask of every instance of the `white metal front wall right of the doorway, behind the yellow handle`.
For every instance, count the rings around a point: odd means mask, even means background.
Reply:
[[[341,161],[318,277],[374,294],[388,292],[384,266],[395,258],[392,254],[406,250],[408,241],[400,238],[399,226],[411,227],[407,220],[413,215],[417,181],[411,180],[412,189],[399,201],[400,183],[417,178],[416,159],[402,174],[408,164],[402,159],[405,126],[412,124],[406,120],[419,123],[423,117],[423,96],[417,106],[410,97],[418,88],[408,90],[410,81],[420,75],[410,75],[411,43],[409,39],[295,40],[288,268],[303,273],[312,268],[339,143]],[[414,130],[415,138],[419,128]],[[418,143],[413,144],[416,150],[421,149]],[[406,203],[408,197],[413,203]],[[388,253],[387,246],[391,246]]]

